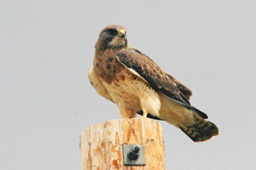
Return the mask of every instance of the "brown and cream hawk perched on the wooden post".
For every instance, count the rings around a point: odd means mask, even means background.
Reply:
[[[110,25],[102,29],[88,71],[96,92],[115,103],[123,118],[137,114],[164,120],[180,128],[195,142],[218,135],[207,115],[190,105],[192,92],[162,71],[147,55],[130,48],[126,29]]]

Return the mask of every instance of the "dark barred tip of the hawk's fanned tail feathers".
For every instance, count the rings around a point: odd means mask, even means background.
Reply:
[[[211,139],[218,135],[218,127],[212,122],[208,122],[200,116],[193,115],[195,123],[190,125],[179,125],[179,128],[195,142]]]

